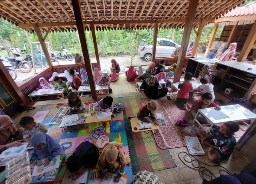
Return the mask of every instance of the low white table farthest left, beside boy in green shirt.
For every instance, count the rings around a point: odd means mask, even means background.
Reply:
[[[64,96],[64,92],[68,92],[67,91],[67,88],[63,88],[63,89],[60,89],[60,90],[54,90],[54,89],[40,89],[40,90],[37,90],[37,91],[33,91],[32,93],[30,93],[28,95],[28,97],[30,98],[31,102],[34,102],[32,97],[38,97],[36,98],[35,102],[40,98],[40,96],[48,96],[48,95],[59,95],[61,94],[63,99],[65,99],[65,96]],[[49,98],[49,99],[54,99],[54,98]]]

